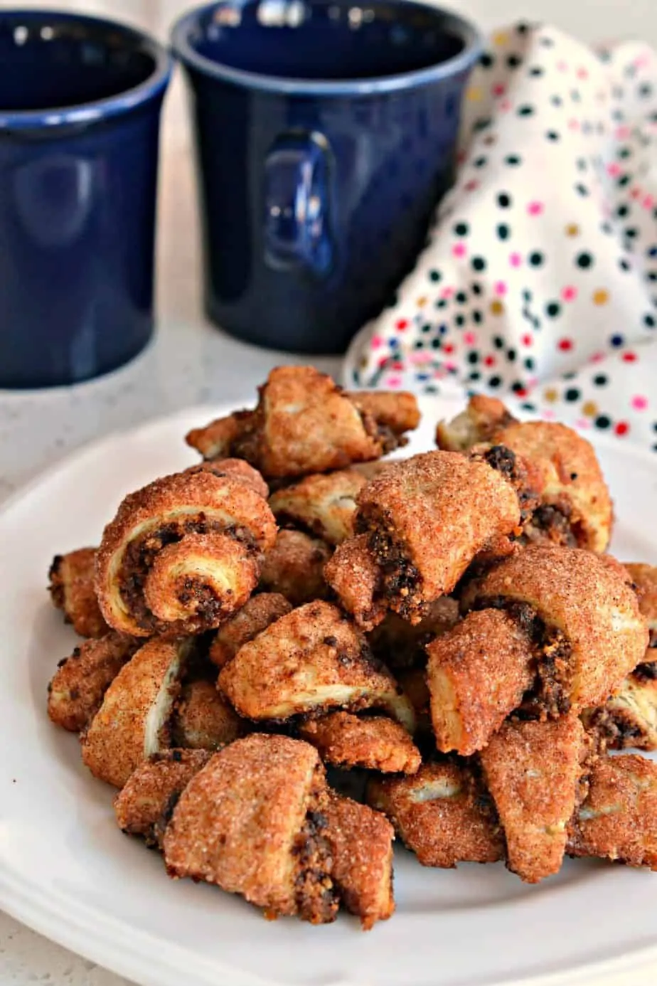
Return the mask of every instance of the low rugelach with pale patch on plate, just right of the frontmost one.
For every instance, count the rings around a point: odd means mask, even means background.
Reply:
[[[412,777],[372,780],[367,803],[383,811],[423,866],[495,863],[504,839],[486,792],[452,761],[423,763]]]

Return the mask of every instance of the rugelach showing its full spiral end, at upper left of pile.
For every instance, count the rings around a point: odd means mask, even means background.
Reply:
[[[179,635],[213,629],[238,609],[276,538],[258,480],[246,463],[209,462],[127,496],[97,555],[106,622],[136,637]]]

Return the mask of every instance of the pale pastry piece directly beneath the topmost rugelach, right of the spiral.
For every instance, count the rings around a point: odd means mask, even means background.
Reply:
[[[367,480],[356,469],[311,475],[277,490],[269,500],[280,524],[304,528],[328,544],[354,534],[356,497]]]

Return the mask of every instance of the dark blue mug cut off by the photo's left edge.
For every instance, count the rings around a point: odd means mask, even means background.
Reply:
[[[0,10],[0,387],[87,380],[148,342],[170,71],[128,27]]]

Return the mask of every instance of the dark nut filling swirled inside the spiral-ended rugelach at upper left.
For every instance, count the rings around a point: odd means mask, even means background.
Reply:
[[[136,537],[127,545],[119,570],[121,599],[144,630],[157,630],[159,625],[159,620],[144,599],[144,584],[158,552],[167,544],[181,541],[187,534],[209,533],[227,534],[244,544],[249,551],[254,550],[253,539],[246,528],[225,528],[217,521],[207,521],[204,514],[184,524],[165,524],[162,528],[149,531],[144,537]],[[183,604],[197,599],[197,612],[202,617],[213,618],[222,609],[210,586],[199,585],[191,579],[186,581],[179,599]]]

